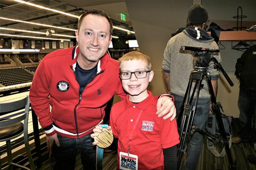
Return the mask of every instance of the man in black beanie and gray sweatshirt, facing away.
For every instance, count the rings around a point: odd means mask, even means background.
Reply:
[[[172,37],[166,45],[163,58],[163,77],[165,79],[166,88],[169,93],[175,96],[175,107],[177,109],[177,118],[180,113],[180,107],[183,103],[186,88],[189,82],[190,72],[193,68],[193,57],[191,53],[180,51],[183,45],[193,47],[204,47],[210,49],[218,49],[218,45],[204,30],[207,27],[208,14],[203,6],[193,5],[188,12],[186,29],[181,33]],[[181,53],[182,52],[182,53]],[[220,54],[215,57],[221,62]],[[219,71],[213,68],[213,62],[209,62],[208,72],[211,77],[212,87],[216,96],[218,89]],[[197,108],[193,124],[200,129],[204,129],[207,116],[210,112],[210,94],[207,82],[203,80],[204,85],[200,91]],[[192,105],[194,103],[192,102]],[[200,133],[194,133],[189,142],[190,147],[186,156],[185,170],[195,170],[203,145],[203,136]]]

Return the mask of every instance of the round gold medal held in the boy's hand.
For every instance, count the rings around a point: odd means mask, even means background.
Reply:
[[[113,142],[113,134],[110,130],[106,130],[104,128],[102,129],[102,133],[98,133],[98,132],[96,133],[99,134],[99,136],[96,136],[94,138],[94,141],[99,141],[97,143],[98,147],[106,148],[106,147],[109,147]]]

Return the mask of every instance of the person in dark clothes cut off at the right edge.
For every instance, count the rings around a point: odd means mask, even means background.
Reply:
[[[253,143],[256,151],[256,45],[248,48],[237,59],[235,75],[240,80],[240,91],[238,98],[239,115],[239,130],[237,136],[232,138],[233,144],[240,142]],[[247,158],[256,163],[256,158],[253,155],[248,155]]]

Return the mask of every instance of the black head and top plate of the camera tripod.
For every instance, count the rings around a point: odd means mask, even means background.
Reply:
[[[209,62],[212,60],[212,54],[219,50],[203,47],[182,46],[181,49],[193,51],[193,67],[197,71],[207,71]]]

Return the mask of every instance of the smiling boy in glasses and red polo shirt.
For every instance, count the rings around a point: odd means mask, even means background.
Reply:
[[[132,51],[119,62],[122,87],[128,95],[113,105],[107,127],[118,138],[117,169],[177,169],[177,122],[155,114],[157,99],[147,90],[154,76],[150,58]],[[102,132],[102,127],[97,126],[93,132],[92,138],[98,136],[96,132]]]

